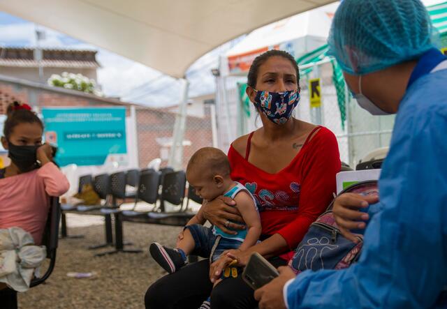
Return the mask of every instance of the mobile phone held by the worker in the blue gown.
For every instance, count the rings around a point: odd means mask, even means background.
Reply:
[[[245,266],[242,273],[242,279],[252,289],[259,289],[268,282],[277,278],[279,273],[267,259],[264,259],[259,253],[253,253],[249,259],[247,266]]]

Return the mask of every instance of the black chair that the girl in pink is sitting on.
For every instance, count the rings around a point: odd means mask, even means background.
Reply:
[[[56,264],[57,244],[59,241],[59,220],[61,218],[61,206],[59,204],[59,197],[50,198],[50,212],[48,213],[47,223],[43,232],[42,245],[47,248],[47,259],[50,259],[50,265],[41,278],[34,278],[31,280],[30,287],[41,285],[47,280]],[[8,299],[0,299],[1,308],[15,309],[17,308],[17,292],[13,290],[3,291],[8,293]],[[4,295],[2,293],[2,296]]]

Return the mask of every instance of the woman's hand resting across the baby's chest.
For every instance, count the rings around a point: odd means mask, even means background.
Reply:
[[[235,235],[237,234],[235,229],[246,228],[245,225],[231,222],[244,223],[235,204],[235,201],[230,199],[230,197],[217,197],[216,199],[203,204],[203,217],[210,221],[212,225],[219,227],[223,232]]]

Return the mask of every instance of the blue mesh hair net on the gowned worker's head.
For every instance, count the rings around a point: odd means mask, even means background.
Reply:
[[[352,75],[416,59],[437,43],[439,33],[420,0],[344,0],[328,39],[329,54]]]

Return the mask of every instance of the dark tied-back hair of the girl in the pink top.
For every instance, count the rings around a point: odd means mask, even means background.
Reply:
[[[39,119],[36,113],[31,110],[29,105],[20,104],[17,101],[14,101],[8,105],[6,114],[8,117],[3,126],[3,136],[6,137],[6,140],[8,140],[11,133],[13,133],[15,126],[20,123],[38,123],[43,130],[41,119]]]

